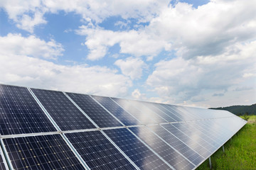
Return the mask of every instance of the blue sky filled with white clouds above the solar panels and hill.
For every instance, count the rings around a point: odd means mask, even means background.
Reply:
[[[256,103],[256,0],[1,0],[0,84]]]

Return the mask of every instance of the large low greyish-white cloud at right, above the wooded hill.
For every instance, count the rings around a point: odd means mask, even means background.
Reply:
[[[231,49],[238,53],[229,52]],[[250,80],[243,77],[245,72],[255,73],[255,52],[256,41],[253,41],[244,45],[231,45],[221,55],[191,60],[184,60],[182,57],[163,60],[155,64],[156,69],[149,75],[146,84],[159,96],[176,98],[176,103],[198,101],[201,93],[206,96],[209,94],[209,98],[222,96],[218,91],[227,93],[243,83],[255,80],[253,77]]]

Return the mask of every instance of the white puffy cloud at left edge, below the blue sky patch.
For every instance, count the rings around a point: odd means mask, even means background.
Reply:
[[[27,55],[56,59],[62,55],[63,51],[62,45],[55,40],[46,42],[34,35],[23,37],[21,34],[9,33],[0,37],[0,55]]]

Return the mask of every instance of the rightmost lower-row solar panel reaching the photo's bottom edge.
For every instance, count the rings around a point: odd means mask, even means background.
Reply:
[[[154,152],[159,154],[160,157],[173,166],[174,169],[193,169],[195,167],[147,128],[134,127],[129,129],[141,138],[146,145],[149,145]]]

